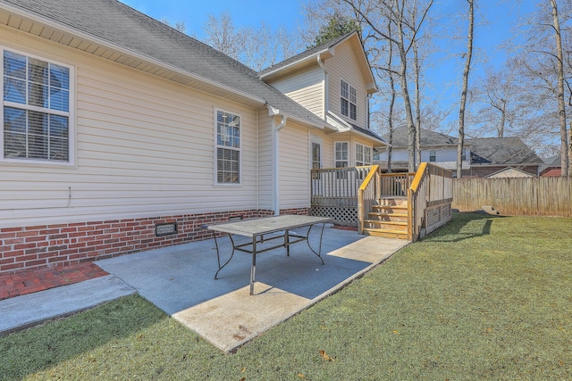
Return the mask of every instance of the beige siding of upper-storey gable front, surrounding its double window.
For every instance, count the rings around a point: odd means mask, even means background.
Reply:
[[[329,110],[342,119],[355,123],[360,127],[367,127],[367,98],[366,81],[359,71],[354,50],[351,44],[336,46],[335,54],[325,61],[328,68],[328,102]],[[340,79],[348,82],[349,86],[355,87],[357,92],[357,120],[341,115],[340,110]]]

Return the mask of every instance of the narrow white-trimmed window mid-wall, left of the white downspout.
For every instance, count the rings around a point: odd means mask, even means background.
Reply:
[[[240,116],[216,111],[216,183],[240,184]]]

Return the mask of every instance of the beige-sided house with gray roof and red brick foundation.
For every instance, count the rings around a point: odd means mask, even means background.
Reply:
[[[357,34],[257,72],[115,0],[5,0],[0,50],[0,274],[306,214],[312,168],[386,145]]]

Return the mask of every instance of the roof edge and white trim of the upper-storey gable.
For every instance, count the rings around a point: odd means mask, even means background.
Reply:
[[[333,38],[330,41],[325,42],[320,46],[315,46],[308,49],[305,52],[300,54],[294,55],[282,62],[278,62],[273,64],[272,66],[266,68],[265,70],[261,70],[259,75],[261,79],[269,80],[272,79],[273,76],[281,75],[283,73],[287,73],[290,70],[298,70],[301,67],[304,67],[309,64],[316,63],[316,57],[320,56],[322,59],[330,58],[333,54],[335,54],[335,46],[341,44],[344,41],[350,40],[354,38],[354,42],[359,45],[359,50],[361,54],[357,54],[357,62],[359,62],[361,66],[361,70],[364,74],[366,74],[367,79],[369,81],[369,85],[367,87],[367,93],[372,94],[378,91],[377,85],[375,84],[375,77],[372,71],[372,68],[367,61],[367,55],[364,50],[364,44],[359,37],[359,33],[357,31],[350,32],[346,35]],[[366,82],[368,82],[366,81]]]

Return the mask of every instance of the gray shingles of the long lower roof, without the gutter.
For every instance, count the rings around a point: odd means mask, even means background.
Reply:
[[[327,123],[257,78],[257,71],[116,0],[4,0],[70,29],[263,98],[315,126]]]

